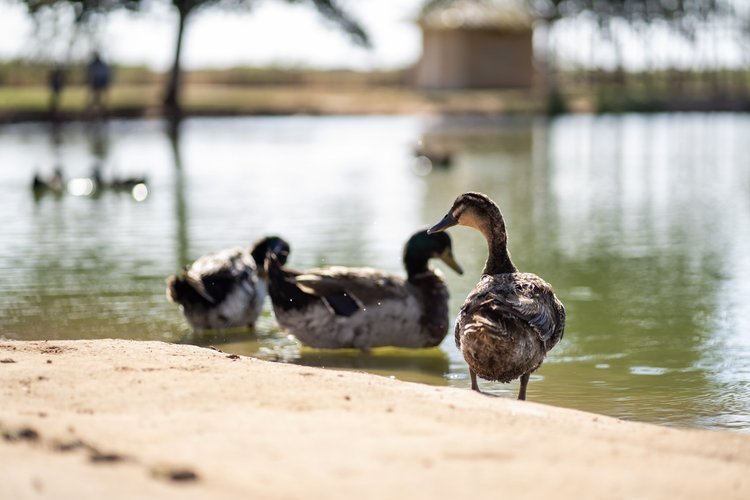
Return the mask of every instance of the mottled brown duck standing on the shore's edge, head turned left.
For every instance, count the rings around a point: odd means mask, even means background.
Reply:
[[[461,306],[455,327],[471,388],[481,392],[477,376],[503,383],[520,379],[518,399],[525,400],[531,374],[563,337],[565,307],[549,283],[513,264],[505,220],[487,195],[460,195],[429,233],[456,225],[478,230],[489,248],[482,277]]]

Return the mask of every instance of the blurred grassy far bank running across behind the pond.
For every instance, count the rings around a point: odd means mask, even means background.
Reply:
[[[49,66],[0,62],[0,122],[49,118]],[[165,74],[115,66],[110,116],[161,114]],[[85,70],[65,69],[63,119],[86,117]],[[357,72],[305,68],[203,69],[184,74],[186,115],[235,114],[527,114],[552,112],[748,111],[747,71],[564,72],[550,100],[542,89],[422,91],[409,69]]]

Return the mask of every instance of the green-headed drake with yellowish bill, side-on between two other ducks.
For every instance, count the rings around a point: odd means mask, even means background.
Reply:
[[[268,294],[279,325],[309,347],[434,347],[448,333],[448,288],[432,258],[463,273],[450,237],[426,230],[404,246],[406,278],[371,267],[296,271],[269,255]]]

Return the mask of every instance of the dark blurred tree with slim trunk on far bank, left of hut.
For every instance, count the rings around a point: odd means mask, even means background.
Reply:
[[[128,9],[137,11],[148,4],[148,0],[18,0],[26,6],[32,16],[54,11],[59,7],[73,10],[74,23],[83,25],[98,16],[108,14],[114,10]],[[311,3],[326,19],[343,29],[352,40],[361,46],[370,45],[369,37],[360,24],[339,6],[338,0],[284,0],[290,4]],[[180,114],[180,81],[182,75],[181,55],[182,42],[187,19],[195,12],[213,6],[249,7],[254,0],[169,0],[177,11],[177,40],[172,67],[167,78],[163,104],[165,111],[171,116]],[[57,17],[57,16],[53,16]]]

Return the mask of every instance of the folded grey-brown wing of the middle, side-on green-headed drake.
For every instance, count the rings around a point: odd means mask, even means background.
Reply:
[[[295,282],[305,293],[325,300],[339,316],[408,296],[402,278],[370,268],[310,269]]]

